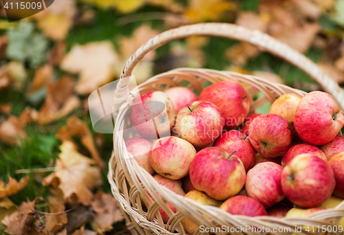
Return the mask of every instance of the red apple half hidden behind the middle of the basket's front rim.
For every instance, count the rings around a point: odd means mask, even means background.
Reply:
[[[268,212],[266,212],[264,206],[259,201],[246,196],[230,197],[219,208],[230,214],[241,214],[251,217],[268,215]]]

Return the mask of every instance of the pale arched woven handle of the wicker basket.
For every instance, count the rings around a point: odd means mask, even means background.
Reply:
[[[129,78],[134,67],[142,58],[153,49],[156,49],[166,43],[190,36],[219,36],[223,38],[232,38],[238,41],[251,43],[266,49],[266,51],[287,60],[289,63],[298,67],[306,74],[311,76],[316,82],[330,93],[341,105],[344,110],[344,91],[339,85],[319,68],[316,63],[288,45],[277,41],[268,34],[258,30],[249,30],[246,27],[233,25],[230,23],[199,23],[186,25],[172,30],[162,32],[144,43],[127,61],[122,70],[120,80],[115,91],[115,103],[120,104],[129,97]]]

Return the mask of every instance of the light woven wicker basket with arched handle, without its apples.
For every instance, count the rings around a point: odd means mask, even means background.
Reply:
[[[292,219],[292,218],[277,218],[272,216],[234,216],[219,208],[208,205],[201,205],[191,199],[186,199],[170,190],[160,186],[148,172],[141,168],[135,159],[130,157],[125,147],[124,129],[127,125],[126,115],[129,113],[130,105],[140,96],[140,93],[145,93],[152,90],[164,90],[167,87],[180,86],[180,82],[186,80],[189,82],[189,87],[198,92],[202,91],[202,84],[204,82],[219,82],[221,80],[237,80],[239,82],[246,82],[250,86],[246,90],[251,95],[261,91],[264,97],[261,97],[252,102],[250,113],[266,102],[274,102],[275,99],[283,93],[298,93],[301,96],[305,95],[304,91],[292,89],[286,85],[268,82],[256,76],[248,76],[237,74],[230,71],[215,71],[212,69],[173,69],[164,74],[159,74],[142,83],[136,89],[129,92],[128,82],[131,71],[136,64],[151,50],[160,47],[170,41],[189,36],[220,36],[224,38],[234,38],[239,41],[245,41],[257,45],[266,51],[284,58],[292,65],[299,67],[305,71],[314,80],[340,103],[341,109],[344,110],[344,92],[338,87],[329,76],[327,76],[316,64],[311,60],[294,51],[287,45],[271,38],[259,31],[248,30],[244,27],[231,25],[227,23],[203,23],[196,25],[187,25],[173,30],[163,32],[155,36],[147,43],[142,45],[131,58],[127,61],[127,66],[123,69],[118,83],[114,105],[118,113],[116,115],[116,124],[114,130],[114,151],[109,161],[109,183],[111,185],[112,193],[117,201],[120,203],[120,210],[125,216],[127,227],[132,234],[185,234],[184,228],[180,221],[184,216],[188,217],[198,225],[205,225],[206,227],[228,226],[230,227],[245,227],[246,225],[255,227],[270,227],[272,231],[275,227],[290,227],[294,231],[296,225],[315,225],[327,226],[336,225],[344,216],[344,202],[338,205],[335,209],[323,210],[316,212],[308,218]],[[139,93],[140,92],[140,93]],[[146,190],[155,199],[154,203],[145,212],[142,208],[141,197],[147,201],[151,198]],[[158,193],[162,197],[158,196]],[[152,202],[152,201],[151,201]],[[166,202],[171,203],[177,210],[173,213],[166,205]],[[168,223],[164,224],[158,210],[162,208],[169,216]],[[199,230],[195,234],[202,234]],[[220,234],[217,232],[217,234]],[[233,232],[233,234],[242,234],[241,232]],[[259,234],[248,230],[246,234]],[[261,233],[260,233],[261,234]],[[274,232],[273,234],[289,234],[288,232]],[[309,234],[303,230],[302,234]],[[328,234],[341,234],[339,232],[332,232]]]

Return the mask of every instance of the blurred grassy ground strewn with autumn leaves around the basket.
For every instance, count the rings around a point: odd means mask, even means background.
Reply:
[[[270,34],[344,85],[343,0],[58,0],[13,23],[1,7],[0,234],[129,233],[107,183],[112,135],[93,130],[88,96],[149,38],[200,22]],[[224,38],[169,43],[133,74],[140,83],[176,67],[321,89],[285,61]]]

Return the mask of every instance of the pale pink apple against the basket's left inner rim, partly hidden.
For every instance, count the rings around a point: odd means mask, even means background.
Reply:
[[[133,155],[136,161],[138,161],[138,164],[144,168],[144,170],[147,170],[149,174],[154,175],[155,171],[151,168],[151,164],[149,164],[151,145],[152,143],[149,140],[140,137],[134,137],[125,142],[128,152]]]

